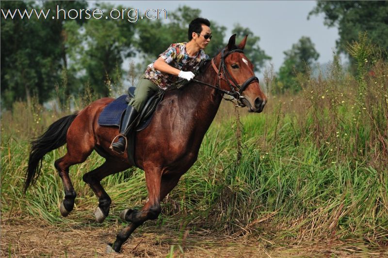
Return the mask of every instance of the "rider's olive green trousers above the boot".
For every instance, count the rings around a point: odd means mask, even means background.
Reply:
[[[137,112],[141,112],[147,99],[159,91],[162,89],[142,76],[136,84],[135,97],[131,98],[128,105],[134,107]]]

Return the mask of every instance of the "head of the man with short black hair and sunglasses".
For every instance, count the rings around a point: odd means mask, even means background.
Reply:
[[[210,21],[205,18],[192,20],[189,24],[188,36],[189,41],[194,40],[200,48],[205,48],[211,38]]]

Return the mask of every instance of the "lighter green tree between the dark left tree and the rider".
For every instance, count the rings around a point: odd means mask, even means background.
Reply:
[[[97,3],[98,9],[104,14],[109,13],[113,6]],[[131,9],[123,6],[118,10]],[[134,24],[126,19],[90,19],[82,27],[75,23],[66,26],[68,39],[66,47],[72,49],[70,69],[77,72],[82,86],[90,85],[98,97],[110,96],[108,84],[120,87],[124,74],[121,65],[123,59],[134,54]]]

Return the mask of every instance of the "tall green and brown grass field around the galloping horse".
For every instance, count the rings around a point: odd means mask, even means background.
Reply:
[[[242,127],[230,104],[223,103],[198,161],[165,199],[160,218],[149,223],[168,224],[171,230],[201,227],[270,243],[339,238],[387,245],[388,64],[376,60],[368,69],[360,67],[357,78],[339,65],[326,79],[298,78],[303,92],[272,97],[264,113],[243,115]],[[369,70],[373,73],[365,72]],[[68,114],[66,109],[26,105],[15,103],[1,117],[3,216],[90,223],[97,198],[82,175],[103,163],[96,153],[70,168],[78,197],[67,218],[58,210],[63,186],[53,165],[65,147],[45,156],[37,184],[22,197],[30,139]],[[147,199],[139,169],[107,177],[103,186],[113,200],[104,223]]]

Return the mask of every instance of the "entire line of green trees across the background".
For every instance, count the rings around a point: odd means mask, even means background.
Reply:
[[[388,49],[387,1],[318,1],[309,16],[323,13],[327,26],[339,26],[339,52],[346,53],[347,42],[358,32],[368,31],[373,42]],[[2,1],[1,9],[87,9],[85,0],[76,1]],[[113,6],[96,2],[105,12]],[[116,9],[130,9],[115,6]],[[384,15],[385,14],[385,15]],[[126,71],[126,58],[141,58],[137,69],[155,60],[171,43],[187,41],[187,25],[201,16],[199,9],[187,6],[171,12],[168,22],[142,19],[130,23],[123,19],[5,19],[1,16],[1,106],[12,108],[16,100],[37,97],[44,103],[54,95],[82,96],[86,89],[98,97],[110,95],[110,87],[120,87]],[[365,18],[368,16],[368,18]],[[211,21],[211,20],[210,20]],[[357,24],[357,26],[352,26]],[[212,40],[206,52],[214,56],[226,45],[226,27],[211,21]],[[260,37],[249,28],[235,24],[237,41],[248,34],[244,49],[259,72],[271,60],[259,46]],[[284,63],[276,75],[274,89],[297,91],[295,77],[316,62],[319,53],[309,37],[302,37],[284,52]],[[107,85],[110,85],[108,87]]]

